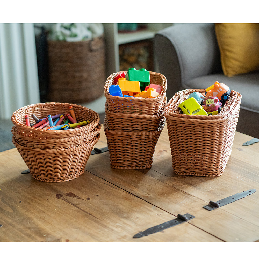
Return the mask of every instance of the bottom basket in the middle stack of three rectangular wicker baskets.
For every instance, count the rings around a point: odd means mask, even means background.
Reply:
[[[112,131],[107,128],[104,119],[104,132],[110,153],[112,168],[145,169],[153,164],[157,140],[164,128],[166,119],[163,116],[155,131],[130,132]]]

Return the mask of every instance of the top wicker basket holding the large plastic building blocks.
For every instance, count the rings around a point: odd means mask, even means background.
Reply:
[[[132,113],[143,115],[158,115],[162,109],[166,96],[167,81],[162,74],[149,72],[150,83],[161,85],[161,93],[156,98],[119,97],[109,94],[109,87],[114,84],[114,77],[119,73],[111,74],[104,85],[104,95],[110,112]]]

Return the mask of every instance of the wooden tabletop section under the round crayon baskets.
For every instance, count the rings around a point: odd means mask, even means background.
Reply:
[[[1,152],[0,161],[6,165],[0,167],[1,242],[221,241],[188,222],[133,239],[174,215],[87,171],[72,181],[47,183],[21,174],[26,165],[16,149]]]

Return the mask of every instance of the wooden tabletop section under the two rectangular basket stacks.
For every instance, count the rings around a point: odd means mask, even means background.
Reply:
[[[240,143],[250,140],[249,136],[236,133],[234,148]],[[241,145],[242,145],[241,143]],[[255,144],[254,144],[255,145]],[[204,229],[224,241],[257,241],[259,239],[259,191],[244,199],[228,204],[213,211],[206,211],[202,207],[210,200],[231,196],[235,193],[258,187],[258,167],[247,155],[247,161],[239,160],[245,157],[249,149],[257,147],[247,146],[246,150],[235,152],[229,160],[225,172],[220,177],[179,176],[174,174],[171,163],[171,152],[168,135],[162,135],[155,150],[154,163],[151,169],[121,170],[107,168],[109,152],[98,154],[98,168],[86,167],[88,171],[116,184],[122,189],[160,206],[163,210],[174,215],[190,213],[195,215],[193,225]],[[239,161],[239,162],[237,162]],[[251,161],[249,170],[246,166]],[[161,173],[160,173],[161,172]],[[250,179],[251,178],[251,179]],[[156,179],[156,181],[154,180]],[[184,210],[184,211],[183,211]]]

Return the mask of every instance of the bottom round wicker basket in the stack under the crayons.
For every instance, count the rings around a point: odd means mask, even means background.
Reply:
[[[33,178],[44,182],[64,182],[84,173],[85,165],[100,133],[79,146],[59,149],[31,148],[13,140]]]

